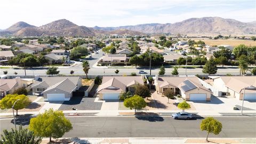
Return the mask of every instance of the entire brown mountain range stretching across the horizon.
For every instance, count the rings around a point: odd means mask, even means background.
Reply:
[[[2,35],[14,36],[95,36],[97,34],[143,35],[143,34],[256,34],[256,21],[241,22],[220,17],[190,18],[175,23],[147,23],[120,27],[78,26],[66,19],[36,27],[17,22],[1,30]]]

